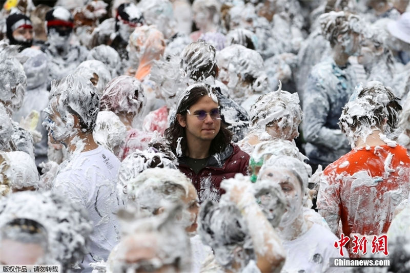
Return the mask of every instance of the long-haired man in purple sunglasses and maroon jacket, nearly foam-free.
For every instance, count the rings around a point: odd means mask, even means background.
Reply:
[[[219,200],[222,179],[247,174],[249,155],[231,143],[216,90],[206,83],[189,86],[178,98],[165,137],[178,157],[178,168],[194,184],[199,200]]]

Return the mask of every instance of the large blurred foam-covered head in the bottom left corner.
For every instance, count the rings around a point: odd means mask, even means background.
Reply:
[[[87,251],[91,221],[83,208],[63,196],[25,191],[2,199],[0,262],[58,264],[74,272]]]

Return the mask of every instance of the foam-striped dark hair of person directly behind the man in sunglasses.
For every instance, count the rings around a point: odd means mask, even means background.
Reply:
[[[186,75],[200,81],[209,76],[216,77],[218,66],[215,61],[216,49],[206,41],[198,40],[189,44],[181,53],[181,69]]]

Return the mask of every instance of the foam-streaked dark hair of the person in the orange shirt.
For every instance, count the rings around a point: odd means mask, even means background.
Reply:
[[[382,133],[393,133],[399,124],[402,107],[392,89],[381,82],[371,81],[363,88],[356,87],[350,101],[346,103],[339,118],[339,126],[344,134],[353,131],[356,134],[363,128],[380,129]],[[363,109],[357,114],[357,108]],[[383,128],[384,120],[386,125]]]

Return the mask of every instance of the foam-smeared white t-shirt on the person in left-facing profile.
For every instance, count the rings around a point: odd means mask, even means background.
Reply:
[[[119,199],[116,176],[119,160],[102,146],[73,155],[57,174],[54,185],[69,200],[83,205],[93,222],[90,236],[90,254],[84,257],[83,272],[91,272],[91,262],[107,260],[111,249],[118,243]]]

